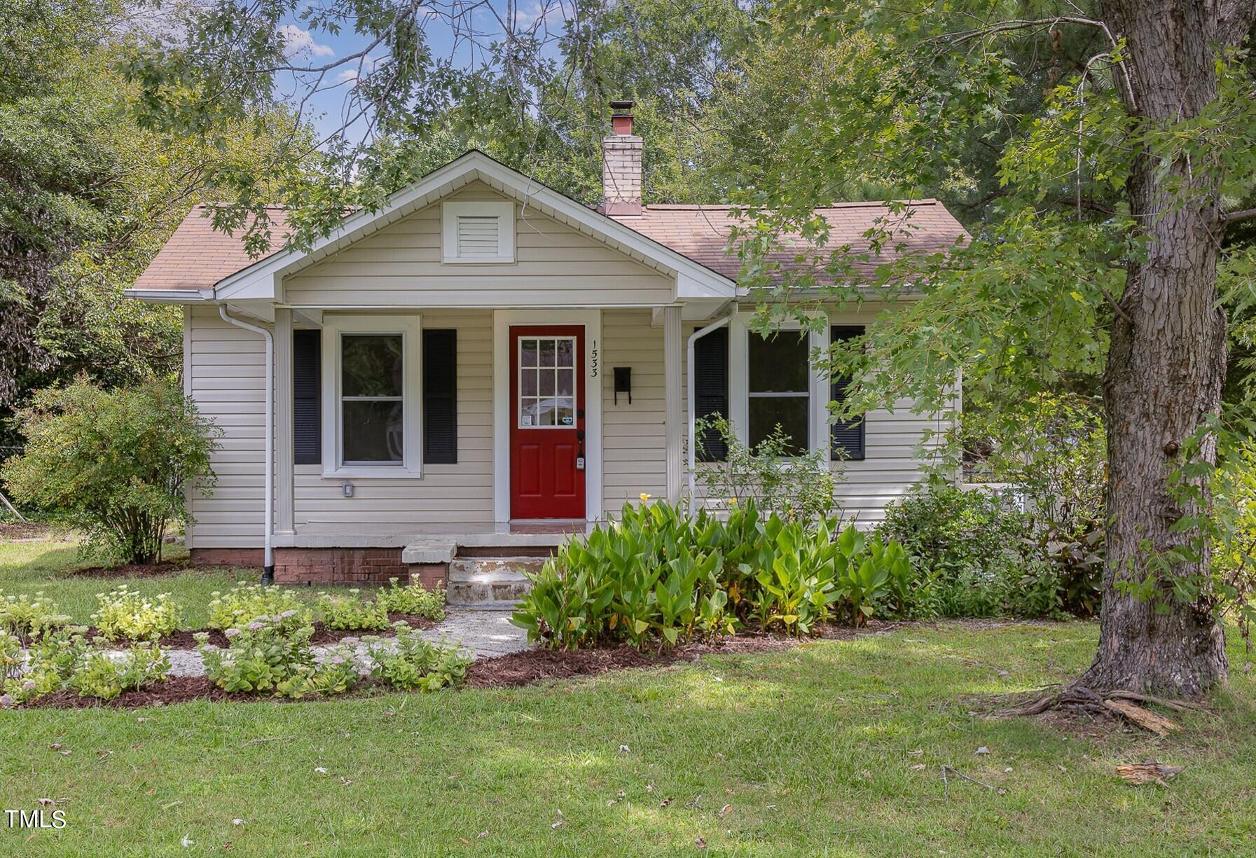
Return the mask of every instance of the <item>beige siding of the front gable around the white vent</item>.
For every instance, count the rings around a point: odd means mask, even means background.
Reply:
[[[442,202],[507,200],[472,182]],[[442,264],[441,204],[284,279],[295,307],[587,307],[672,301],[672,279],[515,205],[515,263]]]

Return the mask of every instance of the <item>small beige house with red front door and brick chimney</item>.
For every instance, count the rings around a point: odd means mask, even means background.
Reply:
[[[365,583],[544,553],[641,494],[679,500],[695,410],[844,459],[840,504],[880,519],[941,418],[902,402],[830,426],[808,366],[878,308],[809,340],[750,332],[727,209],[642,205],[643,141],[625,112],[613,132],[598,209],[472,151],[305,251],[250,259],[202,210],[183,220],[127,294],[183,307],[183,383],[225,432],[193,560]],[[885,253],[963,236],[937,201],[911,210]],[[820,214],[859,246],[885,207]]]

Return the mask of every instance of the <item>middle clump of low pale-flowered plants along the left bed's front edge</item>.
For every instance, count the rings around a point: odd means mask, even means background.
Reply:
[[[314,668],[313,633],[310,627],[285,633],[280,623],[259,618],[226,629],[226,649],[207,643],[207,632],[196,636],[196,648],[205,660],[205,675],[220,688],[285,693]]]

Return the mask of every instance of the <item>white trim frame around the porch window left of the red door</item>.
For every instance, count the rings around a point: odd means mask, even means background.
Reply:
[[[340,456],[340,334],[401,334],[402,338],[402,425],[401,465],[343,465]],[[422,386],[422,319],[418,315],[323,317],[323,476],[353,477],[422,476],[422,431],[420,388]]]

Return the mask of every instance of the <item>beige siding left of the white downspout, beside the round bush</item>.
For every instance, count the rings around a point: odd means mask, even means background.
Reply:
[[[186,317],[185,387],[222,430],[211,464],[217,486],[190,492],[188,548],[261,548],[265,510],[265,366],[263,338],[219,318],[216,308]]]

